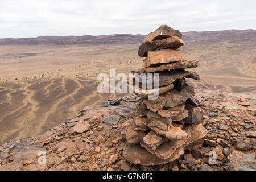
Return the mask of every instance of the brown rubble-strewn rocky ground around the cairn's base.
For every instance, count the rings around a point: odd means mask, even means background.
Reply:
[[[85,107],[38,137],[3,144],[0,170],[255,170],[256,93],[200,88],[195,93],[209,133],[203,147],[185,151],[174,162],[144,167],[123,158],[125,138],[121,132],[140,99],[127,95]],[[38,164],[39,151],[46,152],[46,164]],[[215,154],[217,163],[212,164]]]

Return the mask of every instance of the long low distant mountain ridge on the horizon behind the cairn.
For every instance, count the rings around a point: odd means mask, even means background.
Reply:
[[[222,30],[222,31],[190,31],[182,32],[186,42],[207,43],[229,40],[230,42],[249,41],[256,39],[256,30]],[[113,34],[84,36],[38,36],[36,38],[5,38],[0,39],[0,45],[76,45],[76,44],[137,44],[142,43],[146,35]]]

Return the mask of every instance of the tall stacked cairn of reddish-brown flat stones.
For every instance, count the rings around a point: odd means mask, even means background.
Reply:
[[[135,93],[142,100],[130,115],[130,123],[122,135],[125,159],[143,166],[170,163],[185,150],[203,146],[207,130],[201,124],[203,114],[199,100],[185,78],[199,80],[195,68],[199,61],[183,60],[178,49],[184,45],[182,34],[166,25],[144,38],[138,55],[146,57],[144,68],[132,73],[159,73],[159,96],[149,100],[147,93]],[[154,85],[154,81],[152,81]]]

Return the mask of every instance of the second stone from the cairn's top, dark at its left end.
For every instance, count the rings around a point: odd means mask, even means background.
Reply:
[[[147,57],[147,51],[156,51],[160,49],[177,49],[184,45],[184,42],[177,36],[171,36],[166,39],[158,39],[153,42],[144,42],[139,46],[138,55]]]

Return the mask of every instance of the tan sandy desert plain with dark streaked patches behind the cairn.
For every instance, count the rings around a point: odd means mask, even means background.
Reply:
[[[217,35],[184,33],[185,46],[181,48],[184,59],[200,61],[193,71],[199,72],[201,80],[189,81],[195,87],[203,85],[228,92],[255,91],[254,34],[253,30],[252,36],[242,39],[251,34],[233,33],[237,39],[232,39],[219,37],[224,34],[218,32]],[[140,43],[105,42],[1,45],[0,144],[41,134],[75,115],[83,106],[117,97],[97,92],[97,75],[109,73],[110,68],[115,68],[116,73],[142,68],[143,58],[137,55]]]

